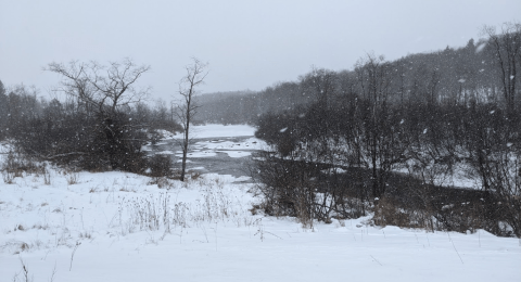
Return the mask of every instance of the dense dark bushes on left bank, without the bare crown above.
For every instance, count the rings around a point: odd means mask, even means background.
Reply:
[[[94,171],[120,169],[145,174],[156,162],[149,159],[141,146],[157,138],[156,129],[179,128],[165,115],[164,107],[151,110],[137,104],[125,113],[100,115],[87,111],[81,103],[37,100],[36,92],[29,90],[16,87],[3,97],[7,102],[1,106],[7,108],[8,118],[1,119],[0,131],[31,159]],[[167,169],[170,166],[168,163]],[[152,170],[154,175],[161,172],[157,168]]]

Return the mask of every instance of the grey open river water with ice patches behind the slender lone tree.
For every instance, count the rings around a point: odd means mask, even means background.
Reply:
[[[192,142],[192,145],[200,145],[198,144],[199,142],[203,141],[213,141],[213,143],[219,143],[219,142],[225,142],[225,141],[231,141],[233,143],[244,143],[245,140],[252,138],[251,136],[247,137],[225,137],[225,138],[199,138],[194,139]],[[149,153],[156,153],[156,152],[162,152],[162,151],[171,151],[171,152],[177,152],[181,151],[181,148],[179,144],[177,144],[176,140],[166,140],[160,142],[160,144],[155,145],[148,145],[145,146],[145,150],[150,150]],[[190,157],[190,153],[192,151],[189,151],[189,156],[188,159],[190,161],[187,163],[187,168],[188,170],[195,170],[200,171],[202,174],[219,174],[219,175],[231,175],[234,177],[241,177],[241,176],[250,176],[249,172],[249,166],[251,163],[251,156],[244,156],[244,157],[230,157],[228,154],[223,153],[223,152],[216,152],[213,149],[207,149],[204,146],[199,146],[195,148],[195,152],[199,151],[208,151],[208,152],[214,152],[216,153],[215,156],[208,156],[208,157]],[[239,150],[241,152],[244,152],[245,150]],[[256,150],[252,150],[251,152],[255,152]],[[173,166],[174,168],[181,168],[181,157],[176,156],[176,154],[169,155],[173,161]]]

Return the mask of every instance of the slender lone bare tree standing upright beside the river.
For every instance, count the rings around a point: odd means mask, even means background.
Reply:
[[[196,94],[198,86],[204,84],[204,78],[208,74],[206,67],[207,63],[203,63],[198,59],[192,57],[192,63],[185,67],[187,74],[179,81],[179,94],[181,95],[181,99],[176,104],[177,111],[175,113],[181,123],[183,133],[182,140],[179,142],[182,148],[181,181],[185,181],[188,145],[191,141],[190,121],[193,120],[193,117],[200,107],[194,103],[194,95]]]

